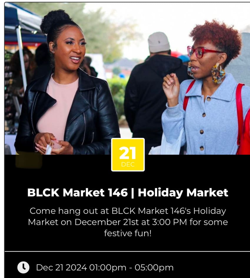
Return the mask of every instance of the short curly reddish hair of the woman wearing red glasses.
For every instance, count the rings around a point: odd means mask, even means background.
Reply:
[[[205,21],[204,25],[196,25],[189,36],[193,38],[193,41],[210,41],[219,51],[225,52],[227,59],[224,67],[226,67],[232,59],[240,54],[241,50],[241,34],[233,27],[213,19],[212,22]]]

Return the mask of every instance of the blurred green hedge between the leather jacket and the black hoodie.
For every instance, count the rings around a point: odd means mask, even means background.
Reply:
[[[123,79],[118,76],[114,76],[112,79],[107,79],[110,86],[110,90],[114,99],[115,108],[117,111],[118,119],[124,115],[124,95],[125,88],[128,83],[128,78]]]

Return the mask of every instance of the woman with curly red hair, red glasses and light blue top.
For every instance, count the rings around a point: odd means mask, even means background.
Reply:
[[[213,20],[196,25],[188,46],[188,74],[195,79],[179,84],[176,74],[164,77],[167,109],[162,114],[163,132],[174,143],[181,141],[187,154],[236,154],[238,149],[237,82],[225,67],[241,50],[241,35],[233,27]],[[250,87],[241,89],[243,117],[250,108]],[[183,105],[184,103],[184,105]]]

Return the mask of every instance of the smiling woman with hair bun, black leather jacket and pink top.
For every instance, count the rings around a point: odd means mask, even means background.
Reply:
[[[51,154],[110,154],[111,138],[120,137],[117,113],[107,82],[79,69],[82,30],[63,10],[49,12],[40,27],[54,70],[27,86],[16,151],[45,154],[53,142]]]

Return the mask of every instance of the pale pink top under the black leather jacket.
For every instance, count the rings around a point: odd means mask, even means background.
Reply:
[[[47,93],[57,100],[39,119],[37,129],[39,132],[53,133],[57,140],[64,140],[64,131],[75,93],[78,88],[79,78],[70,84],[58,84],[51,77]]]

